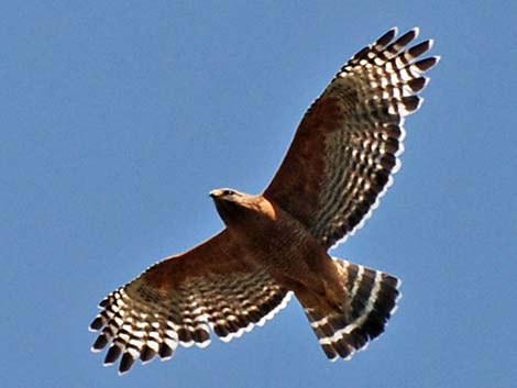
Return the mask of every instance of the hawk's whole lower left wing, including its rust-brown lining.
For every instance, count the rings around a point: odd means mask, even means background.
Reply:
[[[92,350],[110,344],[105,365],[122,356],[124,373],[139,357],[172,357],[178,344],[207,346],[210,329],[223,341],[240,336],[272,318],[289,296],[223,231],[106,297],[90,325],[101,331]]]

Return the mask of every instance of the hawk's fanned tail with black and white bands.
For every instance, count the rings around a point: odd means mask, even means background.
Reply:
[[[319,343],[331,361],[350,359],[369,341],[384,332],[400,297],[400,280],[380,270],[338,259],[349,296],[341,311],[323,312],[316,306],[305,312]]]

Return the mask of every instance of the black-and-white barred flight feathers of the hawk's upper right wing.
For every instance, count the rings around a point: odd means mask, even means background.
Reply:
[[[346,107],[342,128],[326,138],[327,178],[310,228],[326,246],[363,226],[400,167],[404,120],[420,108],[429,81],[422,74],[439,60],[420,59],[432,40],[408,46],[418,33],[415,27],[397,37],[397,29],[389,30],[355,54],[322,95]]]

